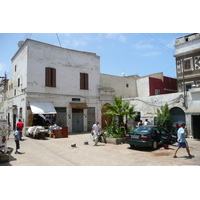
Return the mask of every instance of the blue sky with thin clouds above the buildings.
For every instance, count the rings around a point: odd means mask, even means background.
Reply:
[[[0,33],[0,75],[11,73],[18,42],[30,38],[64,48],[96,53],[100,72],[116,76],[163,72],[176,77],[175,39],[189,33]],[[58,38],[57,38],[58,36]]]

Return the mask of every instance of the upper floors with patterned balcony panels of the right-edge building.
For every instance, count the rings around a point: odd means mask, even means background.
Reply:
[[[200,33],[175,40],[178,91],[200,86]]]

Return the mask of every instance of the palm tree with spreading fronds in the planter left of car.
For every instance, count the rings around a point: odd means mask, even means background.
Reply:
[[[106,127],[110,130],[109,134],[114,137],[125,137],[124,118],[127,121],[135,117],[134,105],[130,106],[128,101],[123,101],[120,97],[114,99],[113,105],[104,108],[107,110],[104,114],[111,116],[112,119],[111,125]]]

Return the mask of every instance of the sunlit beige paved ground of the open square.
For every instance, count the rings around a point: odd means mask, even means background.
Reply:
[[[200,165],[200,141],[188,138],[191,153],[189,159],[185,149],[180,149],[172,158],[175,145],[150,149],[131,149],[128,144],[104,144],[93,146],[90,133],[70,134],[68,138],[32,139],[24,137],[20,141],[21,154],[10,156],[10,162],[0,166],[194,166]],[[88,141],[89,145],[84,142]],[[71,144],[76,143],[76,148]],[[15,148],[13,136],[8,146]]]

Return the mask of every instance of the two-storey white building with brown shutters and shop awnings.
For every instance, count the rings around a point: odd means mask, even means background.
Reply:
[[[18,119],[26,126],[44,123],[43,114],[69,132],[91,130],[101,119],[99,85],[100,57],[95,53],[27,39],[12,58],[1,117],[14,128]]]

